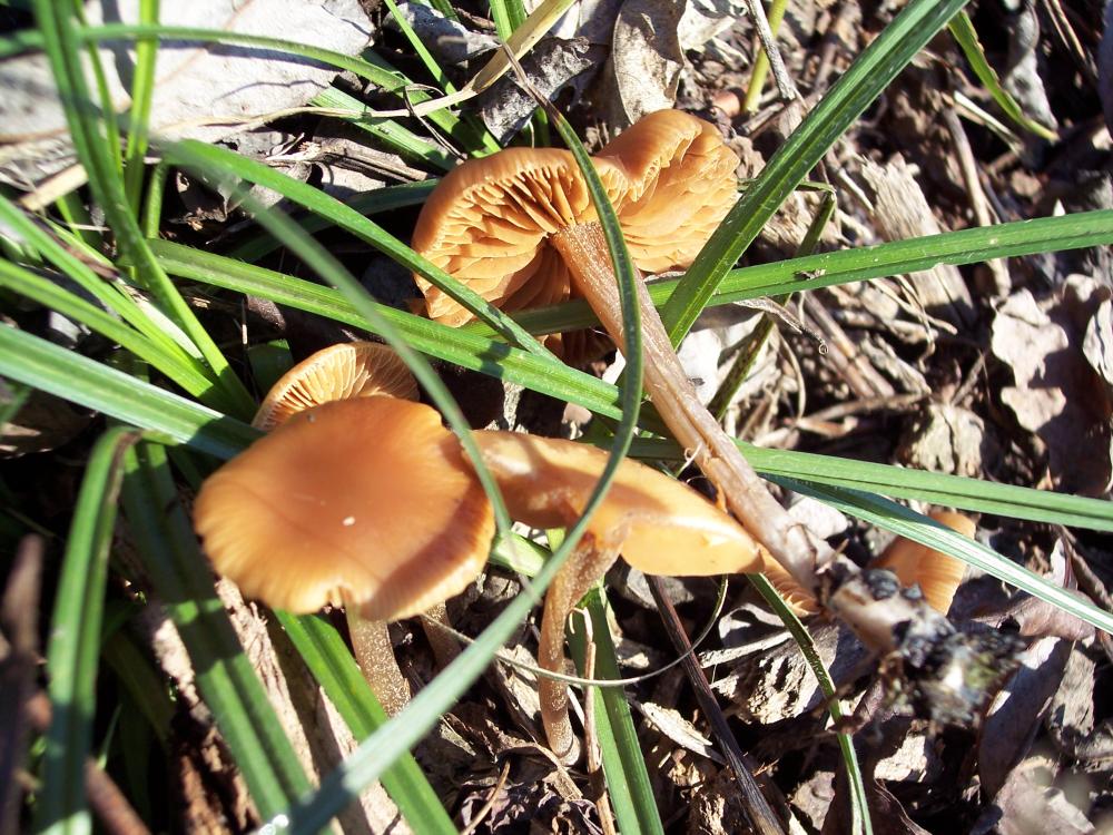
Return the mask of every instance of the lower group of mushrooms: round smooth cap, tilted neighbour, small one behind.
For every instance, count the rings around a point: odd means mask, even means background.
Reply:
[[[486,560],[494,522],[459,440],[433,409],[368,395],[367,380],[318,385],[314,393],[298,379],[306,372],[319,377],[338,358],[373,353],[362,346],[326,350],[279,381],[275,391],[297,391],[294,400],[305,407],[290,406],[293,413],[273,431],[206,480],[194,521],[217,571],[245,596],[294,613],[344,606],[361,667],[384,706],[396,711],[408,694],[397,684],[400,674],[383,675],[396,669],[385,623],[423,612],[472,582]],[[346,376],[362,374],[348,370]],[[342,391],[336,396],[346,399],[322,394]],[[607,464],[601,450],[571,441],[496,431],[474,438],[511,517],[535,528],[573,524]],[[624,461],[546,593],[543,669],[563,671],[568,615],[620,553],[654,574],[733,573],[765,564],[760,547],[711,502]],[[568,719],[567,687],[543,679],[540,691],[550,745],[573,762],[579,744]]]

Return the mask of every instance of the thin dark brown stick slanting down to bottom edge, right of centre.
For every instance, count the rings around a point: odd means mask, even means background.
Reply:
[[[761,794],[754,775],[750,774],[750,769],[746,765],[746,755],[738,747],[738,740],[735,739],[730,726],[727,725],[727,717],[722,715],[719,703],[715,700],[715,694],[711,692],[711,685],[708,684],[707,676],[703,675],[703,668],[699,666],[699,661],[691,652],[688,633],[684,632],[680,616],[677,615],[677,610],[672,608],[672,603],[664,593],[661,578],[647,574],[646,579],[649,581],[649,590],[652,592],[658,611],[661,613],[664,631],[669,633],[669,640],[672,641],[672,646],[678,652],[683,654],[684,672],[688,674],[688,679],[692,682],[700,709],[711,725],[716,738],[722,746],[727,763],[730,764],[730,769],[735,773],[738,786],[742,789],[742,808],[746,811],[746,816],[750,819],[754,831],[762,833],[762,835],[784,835],[785,831],[781,828],[780,821],[774,814],[765,795]]]

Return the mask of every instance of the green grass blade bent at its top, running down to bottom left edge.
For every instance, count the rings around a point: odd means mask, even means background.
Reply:
[[[138,440],[135,430],[115,428],[93,445],[66,542],[47,648],[53,714],[36,809],[37,832],[50,835],[92,832],[85,764],[92,753],[108,549],[124,473],[121,456]]]

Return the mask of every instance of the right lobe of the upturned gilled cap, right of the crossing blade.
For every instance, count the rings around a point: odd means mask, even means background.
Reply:
[[[624,175],[609,196],[630,255],[649,273],[690,266],[738,197],[738,155],[713,125],[680,110],[642,117],[595,160]]]

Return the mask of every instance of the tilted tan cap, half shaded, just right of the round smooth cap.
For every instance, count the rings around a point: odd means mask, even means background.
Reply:
[[[535,528],[574,523],[607,464],[605,452],[572,441],[493,431],[474,438],[510,515]],[[636,461],[619,466],[589,530],[649,574],[702,577],[761,564],[758,544],[733,519]]]

